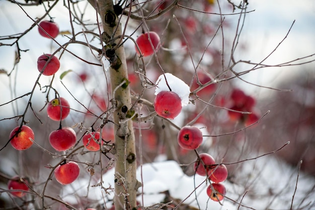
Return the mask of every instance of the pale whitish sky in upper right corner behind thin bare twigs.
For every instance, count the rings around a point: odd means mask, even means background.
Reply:
[[[315,53],[314,1],[249,2],[249,11],[255,9],[255,12],[247,16],[242,39],[248,41],[249,50],[245,54],[241,54],[240,59],[261,61],[285,37],[294,20],[295,23],[285,41],[265,63],[276,64]],[[312,57],[312,59],[314,58]],[[294,77],[295,74],[300,74],[300,71],[306,68],[314,69],[314,64],[307,64],[304,67],[264,68],[247,75],[245,79],[259,85],[274,87],[280,79]],[[263,90],[243,82],[240,83],[248,87],[247,90]]]

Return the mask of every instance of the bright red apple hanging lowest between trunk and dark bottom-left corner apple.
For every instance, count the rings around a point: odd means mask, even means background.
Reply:
[[[56,180],[60,184],[70,184],[80,175],[80,167],[77,163],[70,161],[68,163],[60,164],[54,170]]]

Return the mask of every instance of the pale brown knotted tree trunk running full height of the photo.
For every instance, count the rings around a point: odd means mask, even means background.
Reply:
[[[118,17],[114,13],[112,0],[98,2],[98,10],[102,18],[106,43],[106,57],[110,61],[110,83],[112,101],[115,107],[115,198],[116,210],[136,207],[136,192],[139,182],[136,180],[136,151],[132,121],[126,114],[131,108],[131,97],[128,86],[128,73],[124,47],[115,48],[122,30]],[[124,84],[122,84],[125,82]],[[128,111],[127,111],[128,110]]]

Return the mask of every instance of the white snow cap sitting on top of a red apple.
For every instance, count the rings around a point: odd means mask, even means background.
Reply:
[[[165,80],[166,79],[166,80]],[[166,83],[167,81],[167,83]],[[175,77],[170,73],[165,73],[160,75],[156,81],[155,95],[159,94],[161,91],[170,91],[170,88],[175,92],[182,100],[182,107],[189,103],[190,88],[181,79]],[[169,88],[169,86],[170,88]]]

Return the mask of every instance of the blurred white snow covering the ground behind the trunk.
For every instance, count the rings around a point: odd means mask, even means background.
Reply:
[[[224,181],[227,192],[222,205],[207,196],[206,186],[209,183],[205,177],[187,176],[177,162],[164,161],[163,156],[159,159],[137,170],[137,179],[143,182],[138,201],[146,207],[163,202],[168,191],[175,205],[183,201],[183,204],[201,210],[315,209],[315,178],[300,172],[297,181],[298,167],[292,168],[272,155],[243,163],[242,170],[237,174],[238,182]],[[103,186],[114,186],[113,178],[114,169],[111,169],[103,175]],[[73,194],[88,195],[100,203],[103,203],[103,196],[112,200],[113,191],[105,194],[100,187],[82,188],[88,182],[88,179],[81,179],[65,186],[62,198],[69,203],[77,201]],[[106,206],[110,207],[111,201]]]

